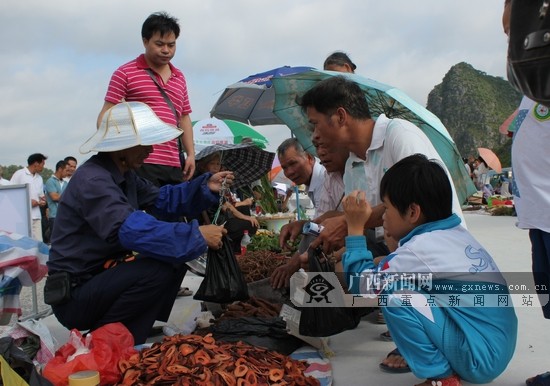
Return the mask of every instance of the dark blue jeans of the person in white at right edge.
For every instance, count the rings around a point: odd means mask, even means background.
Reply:
[[[550,233],[540,229],[530,229],[533,262],[533,279],[542,304],[542,313],[550,319]],[[542,297],[541,297],[542,296]]]

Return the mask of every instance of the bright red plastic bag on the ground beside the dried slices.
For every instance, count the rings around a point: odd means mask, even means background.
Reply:
[[[106,324],[86,338],[71,330],[71,339],[55,352],[42,375],[56,386],[66,386],[72,373],[97,370],[101,385],[114,385],[122,375],[118,362],[134,353],[134,337],[122,323]]]

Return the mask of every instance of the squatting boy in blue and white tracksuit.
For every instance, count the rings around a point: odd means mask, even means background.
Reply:
[[[495,262],[452,213],[444,169],[420,154],[406,157],[382,178],[380,197],[386,236],[399,244],[378,266],[363,236],[372,213],[365,193],[343,200],[350,289],[387,302],[384,317],[400,354],[427,378],[419,385],[490,382],[512,358],[517,317],[511,300],[496,301],[509,293]],[[479,295],[486,304],[477,303]]]

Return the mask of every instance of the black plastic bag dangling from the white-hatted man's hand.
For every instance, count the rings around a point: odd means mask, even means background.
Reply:
[[[222,242],[220,249],[208,249],[206,273],[193,296],[195,300],[232,303],[248,299],[248,286],[233,253],[231,240],[224,236]]]

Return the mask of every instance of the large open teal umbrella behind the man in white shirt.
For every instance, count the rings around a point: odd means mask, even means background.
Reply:
[[[357,83],[365,93],[373,118],[376,119],[380,114],[385,114],[388,118],[402,118],[418,126],[430,139],[451,173],[461,202],[476,192],[464,168],[462,157],[439,118],[403,91],[360,75],[311,70],[272,79],[275,88],[273,111],[290,128],[305,149],[315,152],[311,142],[311,125],[301,106],[298,106],[297,98],[317,82],[331,76],[345,76]]]

